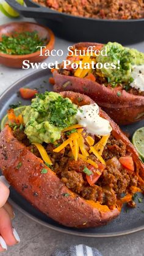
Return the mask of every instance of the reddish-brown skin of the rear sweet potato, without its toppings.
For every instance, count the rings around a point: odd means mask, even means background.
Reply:
[[[78,43],[75,48],[99,45],[97,43]],[[109,89],[85,78],[60,75],[57,70],[53,73],[54,91],[71,90],[84,93],[92,98],[118,125],[128,125],[144,119],[144,97],[132,95],[125,90],[121,95],[117,89]],[[66,84],[67,82],[67,84]],[[69,82],[69,83],[68,83]]]

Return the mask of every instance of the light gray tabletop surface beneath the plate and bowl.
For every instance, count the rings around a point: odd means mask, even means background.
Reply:
[[[5,17],[0,13],[0,25],[12,21],[32,19],[13,19]],[[70,42],[56,38],[56,49],[67,49],[71,45]],[[133,47],[144,51],[144,42],[132,45]],[[65,51],[66,54],[67,51]],[[46,62],[56,60],[49,57]],[[61,58],[63,59],[63,58]],[[4,67],[0,64],[0,93],[2,93],[13,82],[23,76],[31,73],[29,70],[18,70]],[[31,219],[23,216],[15,209],[16,217],[13,221],[13,226],[18,231],[21,243],[17,246],[9,248],[5,254],[8,256],[49,256],[56,248],[67,247],[70,244],[87,244],[88,246],[96,247],[101,251],[103,256],[143,256],[144,255],[144,232],[134,233],[127,236],[120,236],[117,238],[81,238],[77,236],[65,235],[53,230],[47,229],[40,224],[35,223]]]

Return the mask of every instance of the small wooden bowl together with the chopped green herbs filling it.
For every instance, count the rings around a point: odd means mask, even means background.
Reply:
[[[40,64],[48,58],[46,53],[51,53],[54,42],[51,29],[38,23],[3,24],[0,26],[0,64],[12,68],[23,68],[25,61]]]

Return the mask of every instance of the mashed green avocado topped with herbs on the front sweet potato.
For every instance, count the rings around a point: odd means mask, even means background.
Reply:
[[[37,94],[23,111],[24,133],[31,142],[53,143],[60,139],[63,128],[76,123],[76,113],[77,106],[59,93]]]

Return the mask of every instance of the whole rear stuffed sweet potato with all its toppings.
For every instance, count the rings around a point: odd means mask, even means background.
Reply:
[[[90,46],[94,46],[93,51],[99,51],[99,56],[91,55],[90,51],[87,56],[87,49]],[[101,51],[106,47],[107,56],[102,56]],[[81,55],[82,51],[86,52],[85,56]],[[136,49],[124,48],[118,43],[78,43],[73,46],[73,54],[68,56],[67,60],[70,65],[64,67],[62,62],[59,70],[53,70],[56,92],[72,90],[88,95],[118,125],[127,125],[144,119],[143,53]],[[88,63],[90,68],[82,69],[80,62]],[[78,64],[78,67],[72,68],[73,63]],[[98,63],[108,63],[110,68],[96,68],[100,67],[100,64],[96,66]],[[112,64],[115,65],[115,69]]]

